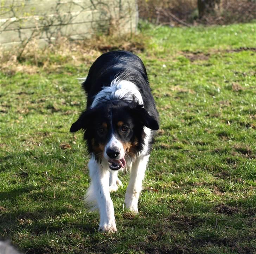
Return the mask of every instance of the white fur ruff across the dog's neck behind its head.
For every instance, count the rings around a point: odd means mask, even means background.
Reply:
[[[139,104],[143,105],[143,99],[138,87],[130,81],[119,80],[117,77],[112,80],[110,86],[102,87],[102,90],[95,96],[91,108],[108,100],[124,100],[126,102],[132,102],[134,98],[137,99]]]

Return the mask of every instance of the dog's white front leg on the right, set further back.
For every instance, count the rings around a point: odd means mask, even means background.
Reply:
[[[149,155],[139,157],[132,165],[130,182],[125,194],[125,205],[134,213],[138,213],[138,200],[142,189]]]

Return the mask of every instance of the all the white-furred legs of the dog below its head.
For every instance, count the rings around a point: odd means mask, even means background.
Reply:
[[[130,182],[125,194],[126,208],[138,213],[138,200],[142,189],[142,181],[145,176],[149,155],[138,157],[132,163]],[[122,183],[117,177],[118,171],[109,171],[108,164],[98,164],[94,157],[91,157],[88,168],[90,171],[91,183],[85,194],[85,204],[90,210],[98,209],[100,212],[99,230],[103,232],[116,232],[114,206],[110,192],[116,191]]]

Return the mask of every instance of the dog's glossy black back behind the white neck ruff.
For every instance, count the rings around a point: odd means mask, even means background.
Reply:
[[[128,51],[110,51],[102,54],[92,64],[87,79],[82,84],[88,95],[87,109],[90,108],[95,95],[101,91],[102,87],[110,86],[116,77],[130,81],[138,87],[144,108],[158,120],[146,68],[139,57]]]

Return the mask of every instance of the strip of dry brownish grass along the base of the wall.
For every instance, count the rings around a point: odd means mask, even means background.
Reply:
[[[45,71],[58,71],[61,65],[71,63],[79,66],[91,63],[102,53],[111,50],[127,50],[142,52],[148,38],[143,34],[95,35],[90,39],[70,41],[66,37],[59,37],[54,44],[40,47],[38,40],[30,40],[23,50],[21,57],[19,50],[0,52],[0,70],[8,75],[18,71],[37,73],[40,68]]]

